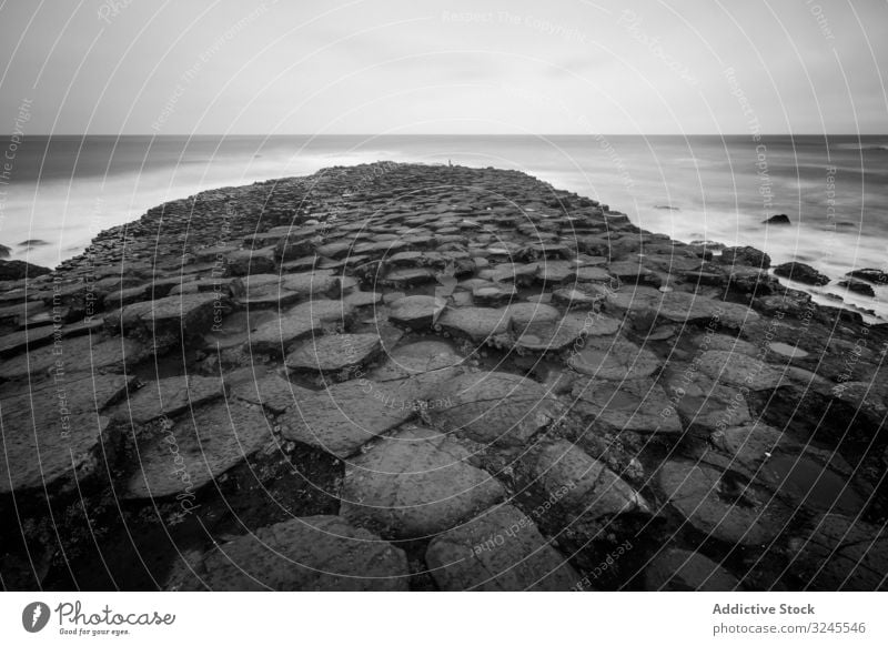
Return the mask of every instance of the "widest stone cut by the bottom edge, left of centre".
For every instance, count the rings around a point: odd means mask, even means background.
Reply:
[[[190,589],[406,592],[404,552],[340,516],[260,527],[208,553]]]

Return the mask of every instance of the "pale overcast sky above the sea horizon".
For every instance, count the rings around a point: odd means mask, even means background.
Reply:
[[[885,0],[7,0],[0,132],[888,133]]]

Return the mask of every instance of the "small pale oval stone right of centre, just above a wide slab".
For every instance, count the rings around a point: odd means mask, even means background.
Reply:
[[[567,363],[582,374],[616,381],[649,376],[660,365],[656,354],[623,336],[589,337]]]

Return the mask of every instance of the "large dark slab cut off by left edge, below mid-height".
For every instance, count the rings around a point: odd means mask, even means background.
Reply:
[[[132,378],[72,373],[0,395],[3,458],[0,494],[73,491],[104,471],[115,442],[103,411],[123,396]],[[105,444],[107,452],[105,452]]]

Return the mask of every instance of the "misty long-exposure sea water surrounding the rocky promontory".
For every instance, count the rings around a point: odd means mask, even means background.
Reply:
[[[521,170],[648,231],[749,244],[836,280],[888,270],[888,137],[33,137],[13,152],[0,164],[0,244],[46,266],[168,200],[392,160]],[[761,223],[777,213],[793,224]],[[835,280],[809,291],[888,316],[884,289],[876,300]]]

